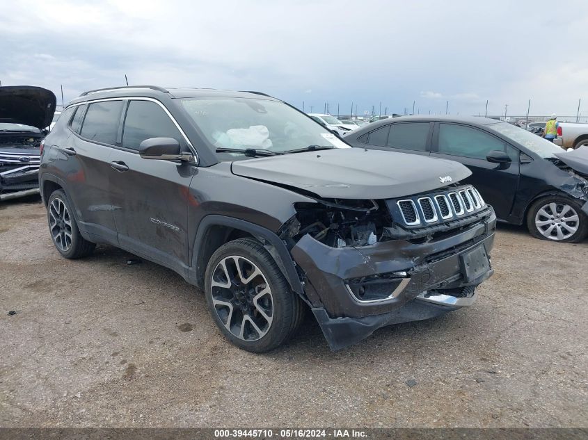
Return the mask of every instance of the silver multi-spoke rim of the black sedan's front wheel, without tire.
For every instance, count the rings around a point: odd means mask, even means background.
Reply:
[[[550,202],[541,206],[535,215],[535,227],[550,240],[570,238],[579,226],[580,217],[569,204]]]

